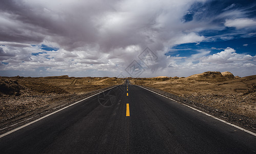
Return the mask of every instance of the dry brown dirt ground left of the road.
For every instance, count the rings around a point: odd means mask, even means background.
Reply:
[[[0,76],[0,131],[10,124],[82,100],[123,82],[124,79],[117,78],[74,78],[67,75],[44,78]]]

